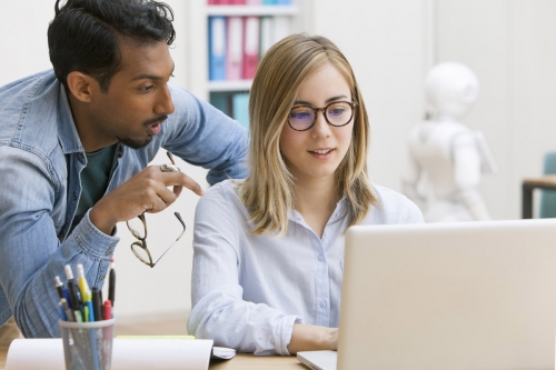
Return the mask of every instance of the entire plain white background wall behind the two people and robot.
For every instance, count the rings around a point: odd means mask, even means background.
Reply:
[[[187,57],[205,52],[197,50],[200,43],[192,42],[196,34],[186,24],[187,11],[198,9],[191,6],[198,1],[203,0],[168,1],[176,10],[178,31],[171,50],[173,82],[186,88],[196,74],[187,68]],[[485,177],[480,190],[495,218],[519,218],[520,179],[539,174],[542,154],[555,147],[556,72],[550,67],[556,66],[556,2],[344,0],[339,7],[336,0],[305,1],[305,30],[332,39],[361,86],[371,121],[371,180],[400,189],[406,138],[423,118],[424,76],[433,61],[457,60],[473,68],[481,83],[478,101],[464,122],[486,132],[502,169]],[[0,84],[50,67],[46,31],[53,2],[10,0],[10,11],[0,13]],[[166,161],[161,153],[155,162]],[[203,182],[203,170],[181,166]],[[186,192],[172,206],[183,216],[188,231],[155,269],[135,259],[129,250],[132,237],[125,224],[119,226],[120,319],[189,311],[196,202],[197,197]],[[158,256],[176,237],[178,223],[170,211],[147,218],[149,247]]]

